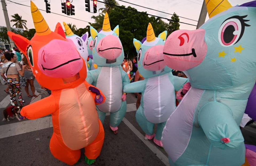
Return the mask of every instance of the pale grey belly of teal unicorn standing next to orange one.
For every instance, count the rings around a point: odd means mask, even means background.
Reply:
[[[122,76],[119,67],[102,67],[97,85],[105,94],[106,101],[98,105],[98,109],[104,113],[116,112],[122,103]]]

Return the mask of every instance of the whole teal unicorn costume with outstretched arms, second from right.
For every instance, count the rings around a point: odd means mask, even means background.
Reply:
[[[133,82],[124,87],[124,92],[141,92],[141,105],[136,112],[136,121],[146,133],[145,139],[153,139],[155,144],[163,146],[161,142],[163,128],[167,119],[176,108],[175,90],[182,88],[188,79],[173,76],[171,68],[163,62],[163,45],[167,31],[155,37],[153,27],[147,27],[147,40],[143,44],[133,39],[138,52],[138,70],[145,78],[143,81]],[[154,134],[154,124],[157,131]]]

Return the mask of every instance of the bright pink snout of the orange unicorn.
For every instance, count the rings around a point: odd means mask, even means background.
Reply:
[[[39,50],[37,65],[46,76],[65,78],[77,74],[83,61],[74,44],[54,39]]]

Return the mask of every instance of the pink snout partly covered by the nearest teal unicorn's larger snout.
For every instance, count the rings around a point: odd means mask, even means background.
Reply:
[[[142,65],[146,70],[162,70],[165,67],[163,61],[163,45],[155,45],[148,49],[144,54]]]

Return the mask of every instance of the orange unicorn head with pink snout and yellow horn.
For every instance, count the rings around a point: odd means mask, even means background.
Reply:
[[[8,32],[26,55],[38,83],[51,90],[74,88],[86,78],[85,61],[69,42],[62,28],[52,32],[37,6],[31,1],[35,35],[31,40]],[[61,31],[62,30],[62,31]]]

